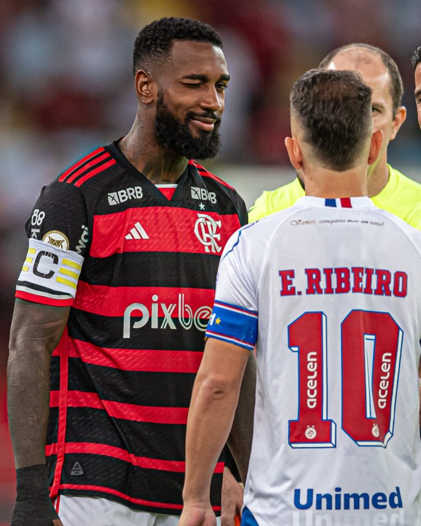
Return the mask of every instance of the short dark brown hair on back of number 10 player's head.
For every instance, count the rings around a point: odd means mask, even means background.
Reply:
[[[372,90],[352,71],[310,69],[294,84],[291,112],[329,169],[352,168],[373,127]]]

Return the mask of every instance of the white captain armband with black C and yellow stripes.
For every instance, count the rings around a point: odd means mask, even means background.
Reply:
[[[72,305],[84,258],[44,241],[29,239],[16,297],[46,305]]]

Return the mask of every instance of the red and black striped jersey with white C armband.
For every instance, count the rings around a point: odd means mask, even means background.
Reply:
[[[27,222],[33,261],[16,296],[72,304],[51,361],[52,498],[99,496],[181,513],[187,412],[218,261],[247,210],[193,160],[177,183],[168,200],[112,143],[44,187]],[[216,514],[222,473],[221,458]]]

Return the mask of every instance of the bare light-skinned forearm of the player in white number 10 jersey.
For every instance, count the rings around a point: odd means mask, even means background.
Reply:
[[[239,386],[196,379],[187,422],[185,502],[209,501],[212,473],[232,426],[238,392]]]

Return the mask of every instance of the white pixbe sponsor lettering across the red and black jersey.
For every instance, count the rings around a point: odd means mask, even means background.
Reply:
[[[123,338],[130,338],[132,329],[140,329],[145,325],[149,325],[152,329],[177,329],[182,327],[186,330],[191,329],[194,325],[200,331],[204,332],[206,330],[209,317],[212,314],[212,308],[208,305],[198,307],[193,312],[191,306],[185,302],[184,294],[178,294],[178,303],[166,304],[159,302],[158,299],[156,294],[152,296],[150,309],[142,303],[132,303],[125,309]],[[172,317],[177,305],[178,317]]]

